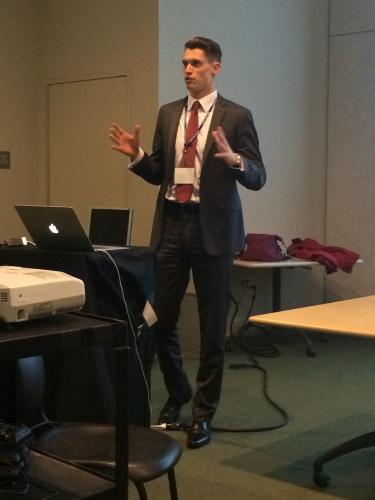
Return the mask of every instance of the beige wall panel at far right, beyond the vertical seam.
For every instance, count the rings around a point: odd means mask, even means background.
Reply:
[[[327,242],[361,254],[327,299],[375,293],[375,2],[331,0]]]

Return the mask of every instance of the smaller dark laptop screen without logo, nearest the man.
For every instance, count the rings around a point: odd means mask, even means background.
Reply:
[[[89,237],[94,245],[129,246],[133,210],[92,208]]]

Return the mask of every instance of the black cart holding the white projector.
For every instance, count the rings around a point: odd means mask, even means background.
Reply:
[[[19,323],[13,328],[0,326],[0,360],[47,354],[62,354],[95,345],[114,347],[116,386],[116,482],[98,477],[83,469],[41,453],[31,453],[28,471],[30,487],[23,498],[44,500],[127,499],[127,411],[122,387],[127,387],[128,339],[126,323],[92,315],[72,313]],[[9,494],[0,494],[9,500]],[[12,496],[13,498],[13,496]]]

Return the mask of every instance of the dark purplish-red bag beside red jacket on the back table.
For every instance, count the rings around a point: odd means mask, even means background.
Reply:
[[[239,255],[240,260],[259,260],[263,262],[273,262],[288,258],[281,245],[285,248],[284,241],[276,234],[255,234],[246,235],[245,250]]]

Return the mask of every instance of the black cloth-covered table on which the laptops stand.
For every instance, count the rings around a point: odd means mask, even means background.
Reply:
[[[152,296],[154,254],[149,248],[132,247],[109,252],[118,266],[133,325],[141,325],[146,300]],[[0,247],[0,265],[35,267],[66,272],[85,283],[86,303],[83,311],[101,316],[126,319],[127,314],[118,283],[117,271],[110,258],[101,252],[60,252],[35,247]],[[148,382],[153,356],[152,330],[143,327],[136,341]],[[150,420],[147,392],[135,340],[130,336],[129,355],[129,421],[148,425]],[[103,346],[79,349],[46,357],[47,410],[57,420],[113,422],[115,415],[113,389],[113,351]],[[13,377],[12,366],[2,367],[1,379]],[[7,384],[9,385],[9,384]],[[78,387],[77,387],[78,385]],[[72,390],[74,388],[74,391]],[[81,390],[79,390],[81,389]],[[5,388],[6,390],[6,388]],[[4,393],[3,393],[4,394]],[[78,396],[80,394],[80,396]],[[3,396],[4,397],[4,396]],[[11,420],[13,409],[0,416]]]

